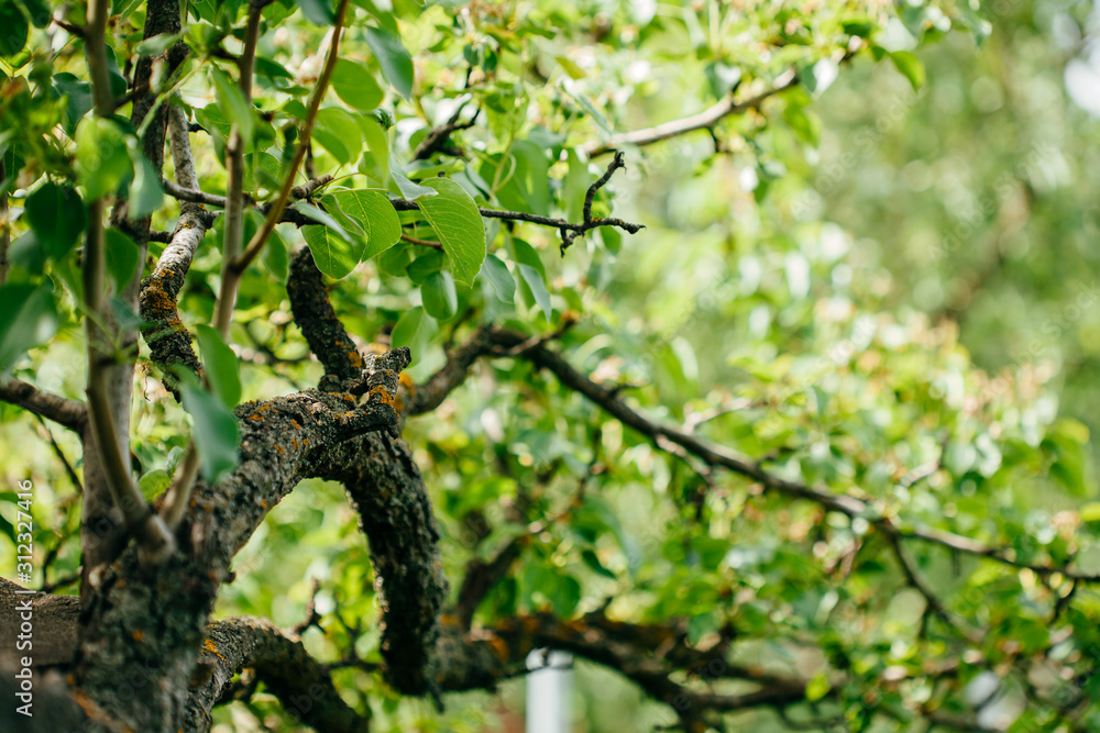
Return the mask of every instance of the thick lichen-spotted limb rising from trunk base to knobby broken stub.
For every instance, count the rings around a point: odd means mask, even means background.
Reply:
[[[396,431],[393,395],[408,360],[408,349],[372,359],[363,404],[350,393],[307,390],[238,408],[241,465],[217,485],[196,485],[180,552],[144,568],[131,547],[92,578],[75,668],[85,693],[135,730],[179,728],[202,630],[233,556],[272,507],[319,473],[331,446]],[[120,691],[119,670],[138,670],[139,696]]]

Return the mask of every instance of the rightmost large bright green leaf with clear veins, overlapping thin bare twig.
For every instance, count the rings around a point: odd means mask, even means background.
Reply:
[[[439,195],[420,200],[420,211],[451,258],[454,279],[473,285],[485,260],[485,222],[466,190],[449,178],[424,181]]]

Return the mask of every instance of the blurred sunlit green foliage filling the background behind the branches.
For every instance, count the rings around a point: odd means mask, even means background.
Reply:
[[[32,4],[0,3],[0,13],[15,8],[29,20]],[[141,44],[141,3],[116,5],[114,57],[158,53]],[[257,201],[277,188],[331,22],[328,3],[301,5],[264,11],[252,110],[216,53],[239,51],[246,3],[189,3],[191,58],[161,84],[202,127],[191,137],[204,190],[224,192],[226,136],[245,120],[246,187]],[[318,223],[283,225],[241,285],[229,342],[243,399],[320,376],[284,287],[287,252],[306,242],[341,278],[330,280],[331,298],[349,331],[411,346],[417,381],[479,323],[536,335],[575,319],[554,347],[657,420],[690,425],[784,478],[866,499],[901,526],[949,530],[1023,564],[1100,573],[1098,126],[1064,80],[1096,43],[1091,2],[353,7],[311,163],[337,181],[323,211],[302,210]],[[13,238],[0,297],[22,309],[22,326],[0,333],[0,354],[21,355],[15,376],[78,397],[73,244],[85,223],[58,226],[55,212],[76,186],[85,199],[148,191],[134,131],[87,116],[79,43],[26,25],[29,45],[11,36],[0,47]],[[800,85],[711,134],[623,147],[627,171],[600,189],[593,212],[642,223],[640,234],[594,230],[560,256],[553,229],[470,214],[476,204],[580,221],[607,163],[590,160],[584,145],[730,93],[748,99],[792,70]],[[476,124],[450,141],[461,156],[414,159],[430,127],[475,110]],[[89,173],[85,137],[109,138],[106,173]],[[381,192],[432,189],[425,211],[399,221],[371,209]],[[151,210],[154,229],[170,230],[175,202]],[[212,316],[221,224],[180,293],[189,326]],[[397,224],[441,251],[398,240]],[[124,265],[125,243],[118,247]],[[25,327],[24,313],[45,327]],[[223,348],[210,345],[222,363]],[[155,373],[140,375],[136,393],[132,447],[150,476],[174,466],[189,429]],[[56,549],[53,581],[79,565],[79,502],[42,440],[51,427],[7,404],[0,417],[7,485],[35,480],[36,546]],[[52,430],[78,471],[77,443]],[[733,628],[730,660],[810,680],[807,696],[821,699],[792,718],[843,721],[836,730],[926,730],[922,712],[977,714],[1021,733],[1068,720],[1100,730],[1090,701],[1098,597],[1088,584],[906,543],[949,612],[980,631],[967,637],[930,612],[875,517],[850,520],[700,470],[520,358],[475,367],[405,437],[432,491],[452,587],[471,558],[547,524],[482,604],[481,623],[606,607],[625,621],[688,619],[701,647]],[[6,553],[10,508],[0,506]],[[378,659],[373,571],[338,486],[299,486],[235,570],[219,614],[293,626],[316,580],[322,620],[307,647],[326,660],[349,649]],[[976,711],[972,690],[990,674],[998,696]],[[378,731],[493,730],[521,706],[520,681],[497,696],[448,696],[438,714],[378,675],[349,668],[337,679]],[[605,669],[581,665],[575,689],[576,730],[673,722]],[[295,730],[264,696],[218,715],[219,731],[261,730],[258,721]],[[790,730],[768,709],[726,722]]]

